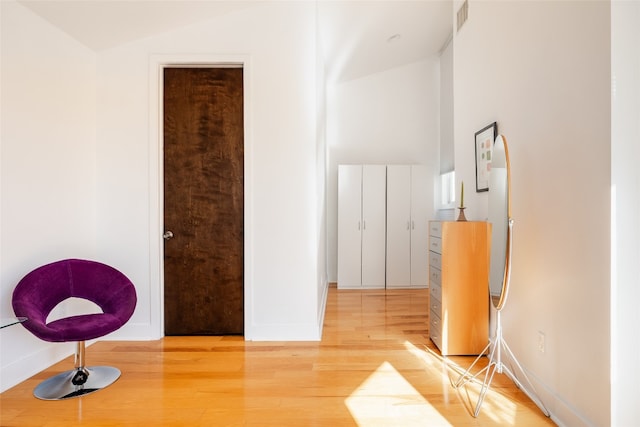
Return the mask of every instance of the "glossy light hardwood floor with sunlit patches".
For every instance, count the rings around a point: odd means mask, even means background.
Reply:
[[[166,337],[98,342],[89,365],[122,371],[80,398],[33,397],[54,365],[0,395],[9,426],[544,426],[554,423],[504,375],[478,418],[479,387],[451,386],[472,357],[445,363],[428,339],[428,290],[330,288],[322,342]]]

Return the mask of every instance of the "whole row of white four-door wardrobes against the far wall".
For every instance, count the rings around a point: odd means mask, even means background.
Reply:
[[[338,288],[428,286],[426,169],[338,166]]]

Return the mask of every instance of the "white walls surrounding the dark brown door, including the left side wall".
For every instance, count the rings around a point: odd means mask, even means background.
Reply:
[[[245,337],[317,340],[326,293],[315,5],[273,2],[95,54],[2,2],[1,310],[46,261],[97,258],[136,285],[114,337],[162,333],[159,64],[245,65]],[[155,65],[155,68],[154,68]],[[321,181],[321,182],[318,182]],[[73,352],[2,331],[2,389]]]

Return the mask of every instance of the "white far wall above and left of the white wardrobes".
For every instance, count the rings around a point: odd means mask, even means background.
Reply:
[[[337,280],[338,165],[423,164],[435,182],[439,84],[434,58],[328,87],[329,281]],[[428,188],[425,197],[433,200],[432,186]]]

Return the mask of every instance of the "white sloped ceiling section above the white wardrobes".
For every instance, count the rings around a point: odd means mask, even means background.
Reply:
[[[438,55],[452,32],[451,0],[320,1],[330,78],[350,80]]]

